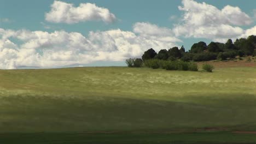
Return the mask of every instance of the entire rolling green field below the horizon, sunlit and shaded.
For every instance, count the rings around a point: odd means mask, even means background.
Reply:
[[[256,131],[256,67],[0,70],[0,143],[256,143],[231,131]]]

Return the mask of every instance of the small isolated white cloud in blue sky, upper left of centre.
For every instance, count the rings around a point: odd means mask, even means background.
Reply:
[[[84,21],[103,21],[110,23],[115,21],[114,14],[106,8],[97,7],[92,3],[81,3],[74,7],[71,3],[54,1],[49,13],[45,14],[45,20],[54,23],[78,23]]]

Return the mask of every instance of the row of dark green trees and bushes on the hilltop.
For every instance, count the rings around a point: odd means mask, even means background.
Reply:
[[[225,61],[237,56],[255,56],[256,55],[256,36],[250,35],[248,38],[236,39],[233,43],[228,39],[226,43],[211,42],[206,45],[205,42],[200,41],[191,46],[189,51],[185,51],[184,46],[178,49],[177,46],[171,49],[162,49],[158,53],[154,49],[145,51],[142,58],[126,59],[128,67],[165,67],[165,61],[182,61],[182,62],[201,62],[219,59]],[[150,64],[149,64],[150,63]],[[155,64],[152,64],[155,63]],[[158,64],[157,64],[158,63]],[[181,62],[176,62],[176,65]],[[175,64],[173,64],[175,65]],[[188,63],[189,65],[189,63]],[[178,66],[177,66],[178,67]]]

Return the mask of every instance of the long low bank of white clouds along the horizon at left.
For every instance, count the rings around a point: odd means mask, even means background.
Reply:
[[[168,31],[137,31],[138,27]],[[156,51],[176,46],[170,29],[150,23],[135,23],[133,32],[112,29],[91,31],[86,37],[78,32],[44,32],[0,28],[0,69],[20,67],[61,67],[93,61],[124,61],[141,57],[153,47]],[[15,43],[11,41],[21,41]]]

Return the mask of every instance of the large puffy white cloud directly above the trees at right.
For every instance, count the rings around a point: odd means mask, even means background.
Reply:
[[[243,34],[239,26],[250,25],[251,17],[238,7],[226,5],[218,9],[205,2],[183,0],[179,10],[184,11],[182,23],[173,28],[177,36],[226,40]]]

